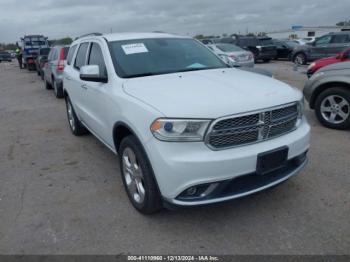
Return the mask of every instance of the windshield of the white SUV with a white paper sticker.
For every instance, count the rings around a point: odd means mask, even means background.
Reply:
[[[122,78],[227,67],[193,39],[154,38],[110,43],[116,73]]]

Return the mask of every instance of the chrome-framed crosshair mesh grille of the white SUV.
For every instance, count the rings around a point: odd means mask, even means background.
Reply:
[[[209,128],[206,143],[213,149],[225,149],[283,135],[295,129],[298,109],[295,103],[218,119]]]

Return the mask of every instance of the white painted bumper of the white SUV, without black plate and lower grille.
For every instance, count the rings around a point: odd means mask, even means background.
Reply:
[[[203,205],[226,201],[249,195],[283,182],[297,174],[306,160],[295,168],[279,172],[276,179],[268,183],[257,183],[244,192],[233,190],[225,194],[211,195],[210,198],[194,201],[183,200],[180,194],[193,186],[233,181],[256,172],[257,155],[282,146],[288,146],[288,160],[292,160],[309,148],[310,126],[306,119],[293,132],[283,136],[227,150],[213,151],[203,142],[171,143],[151,139],[146,151],[151,161],[163,199],[181,206]]]

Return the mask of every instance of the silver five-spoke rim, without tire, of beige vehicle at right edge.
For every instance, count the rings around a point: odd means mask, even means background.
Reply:
[[[350,105],[345,98],[339,95],[330,95],[323,99],[320,111],[322,117],[329,123],[341,124],[350,115]]]

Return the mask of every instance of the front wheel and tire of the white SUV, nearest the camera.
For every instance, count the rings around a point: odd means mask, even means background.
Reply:
[[[135,136],[122,140],[119,163],[125,191],[134,208],[142,214],[160,211],[163,205],[153,169]]]

